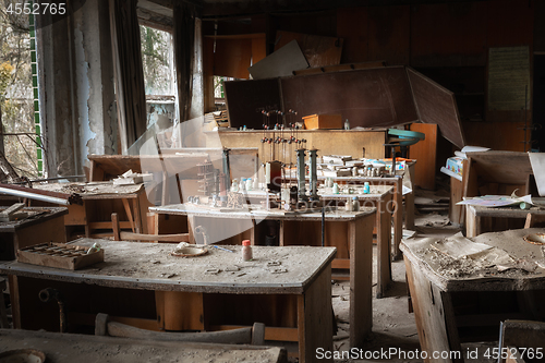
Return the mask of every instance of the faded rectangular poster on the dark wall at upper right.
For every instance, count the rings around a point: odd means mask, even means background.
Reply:
[[[528,109],[530,104],[529,47],[488,50],[488,110]]]

